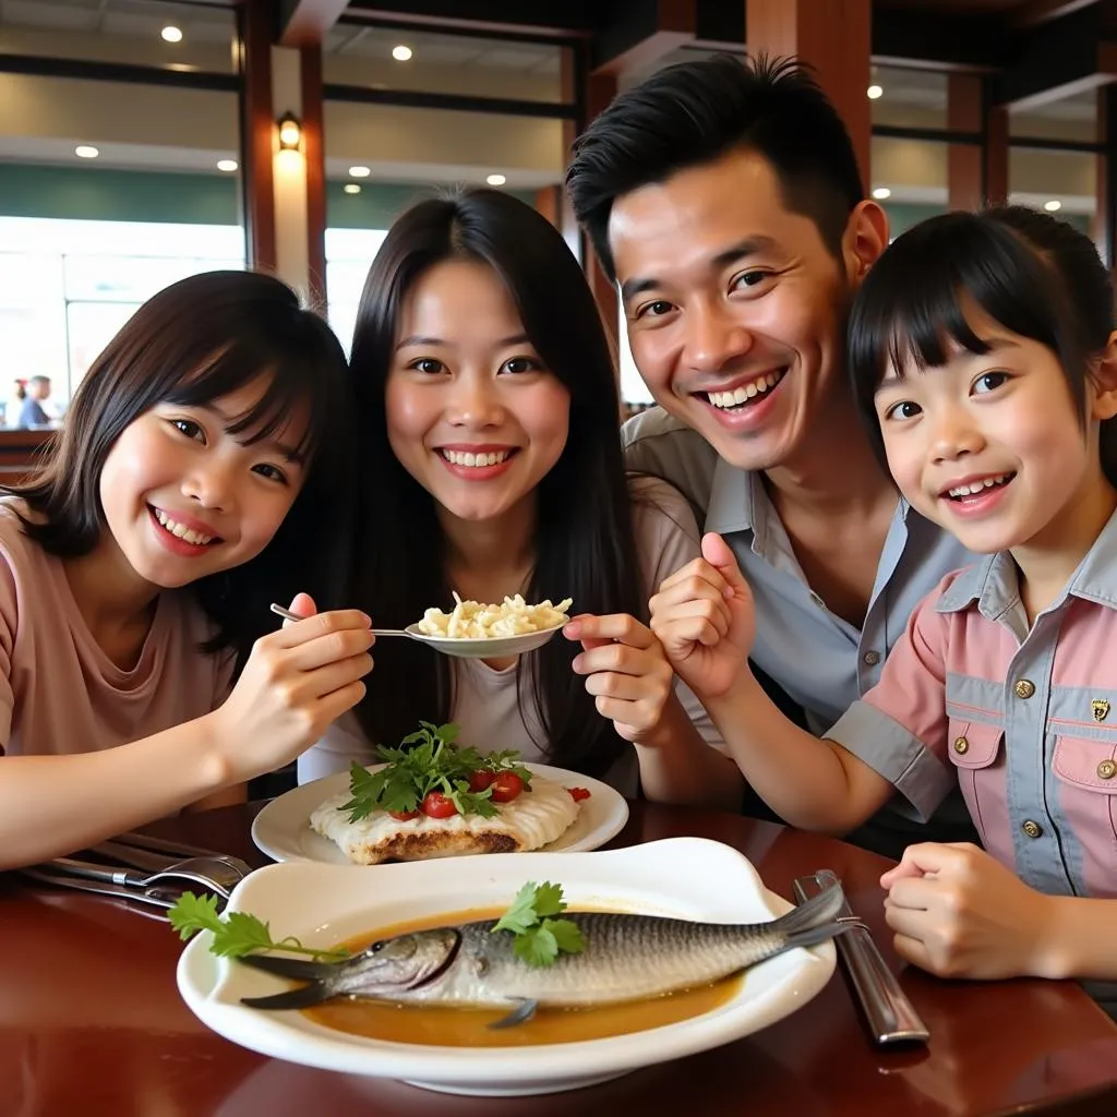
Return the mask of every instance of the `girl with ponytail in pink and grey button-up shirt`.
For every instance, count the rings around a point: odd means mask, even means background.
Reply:
[[[866,203],[868,204],[868,203]],[[1108,270],[1019,207],[897,239],[849,326],[862,413],[904,498],[990,557],[913,613],[879,684],[818,739],[750,675],[748,586],[718,536],[652,628],[785,819],[847,831],[961,781],[987,850],[885,873],[897,952],[938,974],[1096,981],[1117,1008],[1117,332]],[[1110,720],[1110,710],[1113,719]]]

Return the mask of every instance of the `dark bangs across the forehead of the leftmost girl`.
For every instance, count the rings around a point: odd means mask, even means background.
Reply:
[[[225,399],[233,392],[256,384],[261,388],[251,407],[231,416],[226,430],[232,436],[247,435],[247,446],[277,438],[306,404],[307,422],[295,454],[306,460],[321,441],[322,429],[328,423],[325,401],[315,391],[305,364],[274,359],[271,354],[250,351],[249,346],[235,345],[216,356],[198,372],[182,380],[166,398],[169,403],[182,407],[204,407]]]

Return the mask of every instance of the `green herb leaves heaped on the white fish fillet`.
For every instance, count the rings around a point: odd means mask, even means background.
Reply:
[[[378,756],[386,761],[386,767],[370,772],[356,761],[350,765],[352,798],[341,806],[350,812],[350,822],[360,822],[373,811],[417,811],[432,791],[451,800],[459,814],[491,819],[497,814],[490,802],[493,789],[470,791],[469,777],[474,772],[515,772],[525,784],[531,783],[531,772],[516,763],[519,753],[481,756],[476,748],[455,744],[458,727],[452,722],[419,725],[421,728],[404,737],[399,747],[381,745],[376,750]]]

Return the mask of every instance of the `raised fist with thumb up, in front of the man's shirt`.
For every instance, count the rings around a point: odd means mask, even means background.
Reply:
[[[708,533],[703,557],[666,579],[650,602],[651,629],[675,672],[703,701],[724,697],[748,670],[753,594],[728,544]]]

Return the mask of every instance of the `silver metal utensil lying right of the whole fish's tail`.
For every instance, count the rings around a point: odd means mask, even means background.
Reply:
[[[795,899],[802,904],[813,895],[838,882],[830,869],[820,869],[809,877],[794,881]],[[852,918],[848,901],[842,900],[839,918]],[[926,1043],[930,1037],[927,1025],[919,1019],[907,994],[900,989],[896,975],[889,970],[880,949],[865,926],[848,930],[834,938],[838,953],[846,963],[847,973],[861,1011],[869,1024],[873,1040],[881,1044],[917,1041]]]

